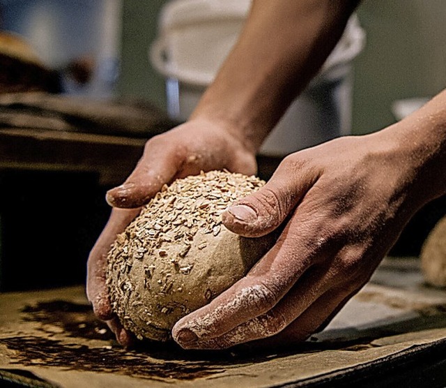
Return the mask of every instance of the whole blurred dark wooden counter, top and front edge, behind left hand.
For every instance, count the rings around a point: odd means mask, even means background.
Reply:
[[[95,172],[114,186],[146,140],[176,124],[146,100],[0,94],[0,169]]]

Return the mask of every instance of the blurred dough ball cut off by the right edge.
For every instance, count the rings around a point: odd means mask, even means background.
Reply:
[[[446,217],[433,227],[422,246],[421,264],[424,280],[436,287],[446,286]]]

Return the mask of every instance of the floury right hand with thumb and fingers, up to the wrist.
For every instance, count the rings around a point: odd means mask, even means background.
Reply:
[[[183,348],[281,345],[318,331],[366,283],[416,207],[412,172],[382,133],[343,137],[284,159],[223,222],[258,237],[286,223],[249,274],[179,320]],[[411,209],[411,210],[409,210]]]

